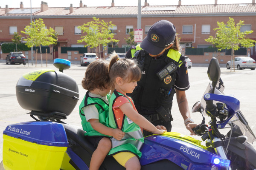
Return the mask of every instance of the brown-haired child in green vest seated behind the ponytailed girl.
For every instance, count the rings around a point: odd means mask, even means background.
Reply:
[[[108,127],[109,73],[108,61],[96,60],[88,65],[82,86],[87,90],[79,106],[81,124],[86,131],[85,137],[96,150],[90,161],[90,170],[98,170],[111,150],[110,137],[120,140],[124,136],[122,130]]]

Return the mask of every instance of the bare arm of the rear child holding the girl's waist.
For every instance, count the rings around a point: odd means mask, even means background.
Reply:
[[[104,135],[113,136],[116,140],[121,140],[125,133],[122,132],[120,129],[113,129],[110,127],[107,127],[99,122],[99,119],[89,119],[88,122],[90,122],[91,126],[94,130],[96,130],[99,133],[102,133]]]

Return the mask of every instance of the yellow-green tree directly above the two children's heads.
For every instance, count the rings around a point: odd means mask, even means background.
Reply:
[[[114,34],[111,33],[109,28],[113,28],[115,26],[111,23],[106,23],[104,20],[99,21],[99,18],[93,17],[93,21],[88,23],[84,23],[82,26],[78,26],[83,33],[87,35],[82,36],[81,40],[77,40],[78,43],[86,42],[84,47],[89,46],[90,48],[98,47],[99,46],[99,58],[100,56],[100,45],[106,48],[108,43],[110,42],[119,42],[119,40],[113,39]]]

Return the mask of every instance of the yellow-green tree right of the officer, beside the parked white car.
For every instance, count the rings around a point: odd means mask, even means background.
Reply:
[[[234,58],[234,51],[242,47],[253,47],[256,41],[246,38],[247,34],[253,33],[252,30],[241,32],[240,28],[244,25],[244,21],[239,21],[239,23],[235,23],[233,18],[229,17],[229,21],[227,24],[224,22],[217,22],[218,28],[214,28],[213,30],[217,30],[215,37],[210,36],[205,41],[211,42],[214,44],[218,50],[222,49],[230,49],[231,48],[231,60]],[[231,71],[232,69],[230,69]],[[234,67],[235,71],[235,67]]]

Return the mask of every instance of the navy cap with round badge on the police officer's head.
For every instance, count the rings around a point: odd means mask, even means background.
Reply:
[[[167,21],[160,20],[154,23],[148,30],[147,36],[141,42],[140,47],[150,54],[157,55],[175,40],[176,28]]]

